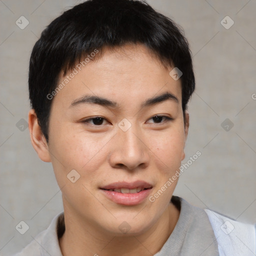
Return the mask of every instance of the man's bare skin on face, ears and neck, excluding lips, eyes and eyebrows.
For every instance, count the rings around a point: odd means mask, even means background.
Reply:
[[[152,255],[163,246],[179,217],[170,203],[177,179],[157,198],[137,205],[121,205],[106,198],[99,187],[117,181],[144,180],[156,193],[184,159],[188,113],[184,124],[181,82],[143,45],[104,48],[52,99],[49,141],[46,143],[34,110],[28,114],[30,138],[41,160],[52,162],[62,191],[65,232],[59,239],[68,255]],[[63,77],[59,78],[59,82]],[[167,99],[142,107],[145,99],[170,92]],[[70,104],[84,94],[115,101],[119,108],[98,104]],[[162,118],[155,121],[155,115]],[[85,118],[105,118],[100,125]],[[131,127],[118,123],[126,118]],[[75,169],[80,178],[67,178]],[[148,197],[149,197],[148,196]],[[126,221],[130,230],[118,226]]]

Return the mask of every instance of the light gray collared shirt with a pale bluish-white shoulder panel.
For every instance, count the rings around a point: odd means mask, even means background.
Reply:
[[[154,256],[256,255],[255,226],[252,224],[243,224],[214,211],[195,207],[178,196],[172,196],[171,201],[180,210],[179,218],[172,233]],[[236,231],[231,230],[232,226],[236,227]],[[46,230],[14,256],[62,256],[58,238],[64,230],[64,214],[60,212]],[[239,242],[237,235],[244,242]]]

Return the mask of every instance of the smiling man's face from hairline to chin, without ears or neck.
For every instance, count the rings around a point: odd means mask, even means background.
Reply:
[[[54,96],[47,149],[66,212],[118,234],[161,217],[187,132],[171,69],[142,45],[105,48]]]

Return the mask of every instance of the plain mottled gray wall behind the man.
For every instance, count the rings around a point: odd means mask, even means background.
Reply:
[[[51,163],[30,144],[27,72],[43,28],[75,0],[0,0],[0,255],[20,250],[62,210]],[[256,0],[148,0],[179,23],[191,46],[196,91],[189,103],[186,162],[174,194],[238,221],[256,222]],[[20,29],[21,16],[29,24]],[[225,29],[226,16],[234,24]],[[229,21],[227,25],[230,24]],[[255,97],[256,98],[256,95]],[[226,131],[228,118],[234,126]],[[227,126],[226,126],[227,127]],[[15,226],[29,225],[21,235]]]

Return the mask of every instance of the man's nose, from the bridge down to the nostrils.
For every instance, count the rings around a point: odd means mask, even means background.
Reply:
[[[113,168],[135,170],[149,164],[149,148],[145,136],[132,125],[128,130],[118,128],[111,145],[109,162]]]

